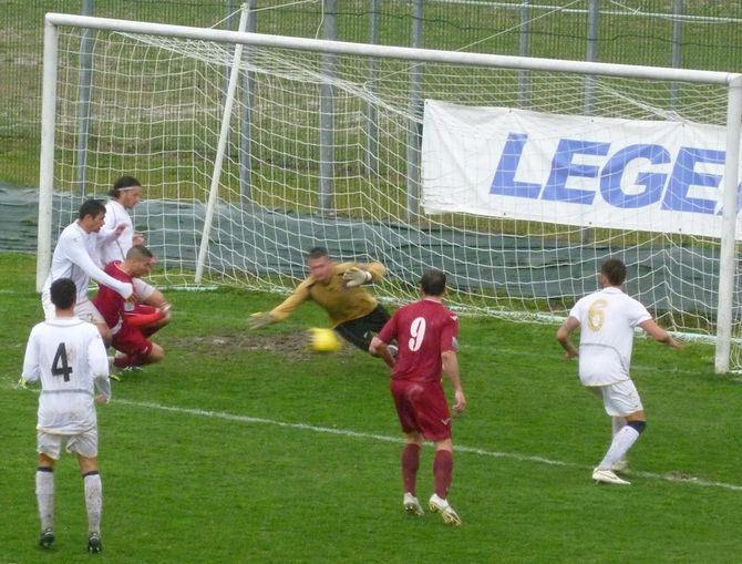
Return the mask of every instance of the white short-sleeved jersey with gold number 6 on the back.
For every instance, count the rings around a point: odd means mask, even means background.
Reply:
[[[628,380],[633,329],[651,319],[647,308],[619,288],[584,297],[569,311],[580,322],[579,379],[585,386]]]

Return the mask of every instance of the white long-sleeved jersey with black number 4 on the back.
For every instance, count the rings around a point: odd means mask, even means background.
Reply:
[[[111,398],[109,359],[95,326],[58,317],[31,330],[23,378],[41,380],[39,431],[78,434],[96,425],[94,393]]]

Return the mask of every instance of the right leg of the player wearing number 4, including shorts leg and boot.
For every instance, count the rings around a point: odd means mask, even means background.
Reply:
[[[101,552],[101,515],[103,513],[103,483],[97,469],[97,431],[79,435],[68,444],[68,450],[78,455],[83,480],[85,510],[87,512],[87,551]]]

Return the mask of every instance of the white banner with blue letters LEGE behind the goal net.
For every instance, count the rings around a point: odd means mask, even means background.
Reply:
[[[724,143],[714,125],[429,100],[422,204],[427,214],[719,237]]]

